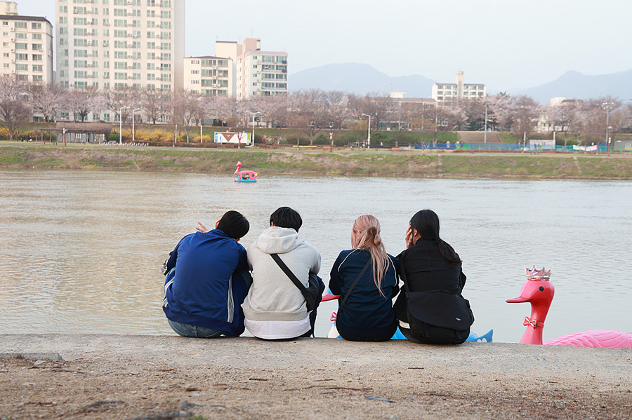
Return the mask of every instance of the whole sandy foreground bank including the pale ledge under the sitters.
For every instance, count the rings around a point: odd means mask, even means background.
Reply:
[[[0,419],[632,418],[632,349],[38,334],[0,353]]]

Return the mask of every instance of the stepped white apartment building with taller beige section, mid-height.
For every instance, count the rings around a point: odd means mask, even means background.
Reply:
[[[244,38],[242,43],[216,41],[215,55],[211,59],[223,57],[233,62],[228,69],[229,95],[238,100],[287,95],[287,53],[262,51],[261,39]]]

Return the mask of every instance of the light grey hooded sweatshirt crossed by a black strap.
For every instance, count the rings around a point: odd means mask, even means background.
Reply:
[[[303,320],[308,316],[305,298],[270,254],[278,254],[305,287],[310,272],[320,271],[320,253],[298,239],[294,229],[272,226],[249,246],[252,287],[242,304],[249,320]]]

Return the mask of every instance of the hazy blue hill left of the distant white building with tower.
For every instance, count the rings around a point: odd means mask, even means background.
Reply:
[[[390,77],[369,65],[343,63],[306,69],[289,76],[291,91],[321,88],[357,95],[405,92],[405,97],[430,97],[435,81],[423,76]]]

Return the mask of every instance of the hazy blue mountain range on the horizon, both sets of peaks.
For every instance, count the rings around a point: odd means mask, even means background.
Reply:
[[[434,80],[421,75],[390,77],[370,65],[342,63],[305,69],[289,76],[291,90],[321,88],[343,90],[357,95],[405,92],[404,97],[430,97]],[[494,91],[488,88],[488,93]],[[619,99],[632,98],[632,69],[625,72],[587,76],[566,72],[557,80],[528,89],[503,90],[510,95],[528,95],[548,104],[552,97],[589,99],[612,95]]]

